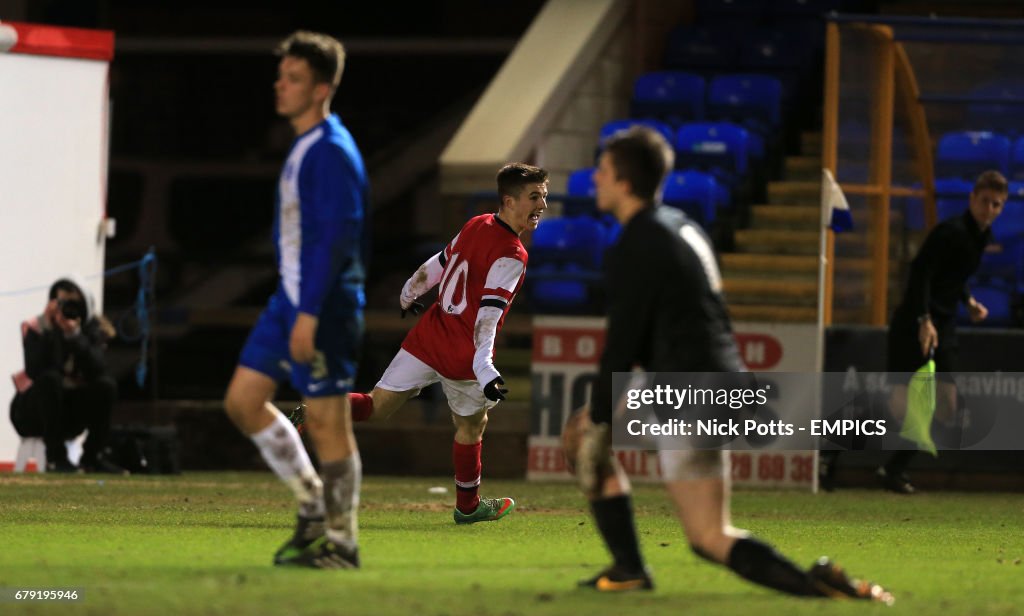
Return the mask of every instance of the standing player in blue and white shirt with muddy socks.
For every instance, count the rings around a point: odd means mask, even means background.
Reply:
[[[273,240],[281,282],[249,335],[224,407],[298,502],[295,534],[275,565],[359,566],[361,464],[348,392],[362,338],[366,167],[331,99],[345,51],[323,34],[296,32],[278,48],[276,112],[296,139],[278,182]],[[317,476],[298,432],[273,406],[278,383],[302,393]]]

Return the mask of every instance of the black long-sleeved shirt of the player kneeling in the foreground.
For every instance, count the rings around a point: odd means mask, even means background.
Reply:
[[[630,219],[604,265],[608,331],[591,398],[610,423],[613,372],[742,370],[711,241],[682,212],[648,207]]]

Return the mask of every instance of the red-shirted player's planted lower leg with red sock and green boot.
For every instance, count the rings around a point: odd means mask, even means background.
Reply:
[[[452,413],[455,423],[455,442],[452,444],[452,461],[455,466],[456,524],[473,524],[500,520],[512,513],[515,500],[480,498],[480,450],[483,431],[487,427],[487,409],[481,408],[472,415]]]

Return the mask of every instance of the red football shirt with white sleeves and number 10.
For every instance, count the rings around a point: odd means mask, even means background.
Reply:
[[[481,306],[502,308],[498,331],[526,276],[526,249],[494,214],[471,218],[441,253],[437,301],[409,332],[401,348],[439,375],[473,381],[473,333]],[[492,341],[493,344],[493,341]]]

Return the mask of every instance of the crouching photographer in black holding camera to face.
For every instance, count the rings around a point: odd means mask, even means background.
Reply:
[[[124,473],[104,452],[117,383],[106,375],[103,351],[114,336],[88,289],[74,278],[54,282],[43,313],[22,323],[25,369],[14,375],[10,421],[20,436],[42,437],[49,471],[78,470],[65,441],[88,430],[81,469]]]

